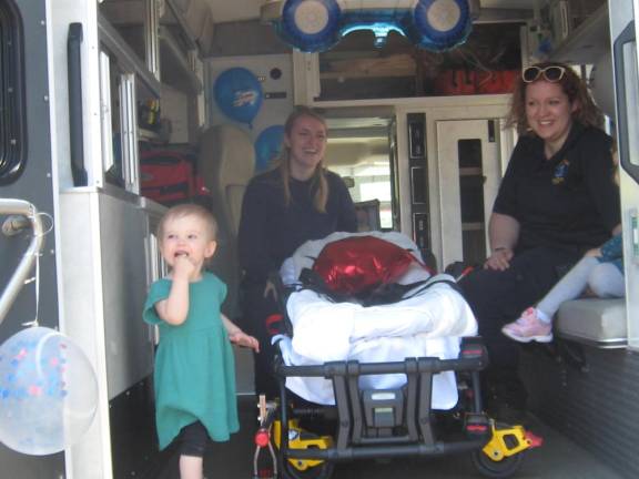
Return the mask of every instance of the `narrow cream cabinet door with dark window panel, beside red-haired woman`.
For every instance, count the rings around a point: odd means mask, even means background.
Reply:
[[[443,267],[486,258],[488,218],[500,177],[497,128],[495,120],[437,122]]]

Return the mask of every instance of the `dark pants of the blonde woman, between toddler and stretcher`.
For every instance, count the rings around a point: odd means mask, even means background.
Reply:
[[[273,398],[278,395],[280,389],[273,370],[275,347],[271,345],[266,319],[273,314],[280,314],[281,310],[277,300],[271,296],[264,297],[264,284],[243,285],[243,327],[260,342],[260,353],[253,353],[255,394]]]

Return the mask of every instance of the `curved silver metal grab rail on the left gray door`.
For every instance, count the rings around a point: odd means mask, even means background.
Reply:
[[[4,287],[2,296],[0,296],[0,324],[2,324],[24,282],[29,278],[37,256],[42,251],[44,235],[42,233],[42,221],[38,214],[38,210],[27,201],[0,198],[0,214],[19,215],[18,217],[10,216],[2,224],[2,233],[6,236],[11,236],[23,231],[28,224],[30,224],[33,230],[31,243],[29,243],[29,247]]]

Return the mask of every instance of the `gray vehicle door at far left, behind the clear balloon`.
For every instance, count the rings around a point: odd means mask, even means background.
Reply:
[[[44,230],[55,222],[51,161],[47,9],[44,0],[0,2],[0,197],[32,203],[49,216]],[[0,214],[0,222],[7,215]],[[3,291],[30,242],[30,230],[0,234],[0,288]],[[54,234],[45,236],[37,282],[26,285],[0,324],[0,343],[36,318],[40,325],[59,324]],[[62,453],[34,457],[0,445],[2,477],[59,478],[64,472]]]

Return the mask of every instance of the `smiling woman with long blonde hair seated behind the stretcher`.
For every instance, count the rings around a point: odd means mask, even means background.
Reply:
[[[357,231],[348,190],[324,167],[326,136],[321,115],[305,106],[295,109],[284,125],[277,165],[251,181],[242,204],[237,240],[244,271],[243,313],[246,329],[263,346],[254,356],[255,389],[268,396],[277,393],[277,386],[266,318],[280,313],[270,275],[302,243],[337,231]]]

